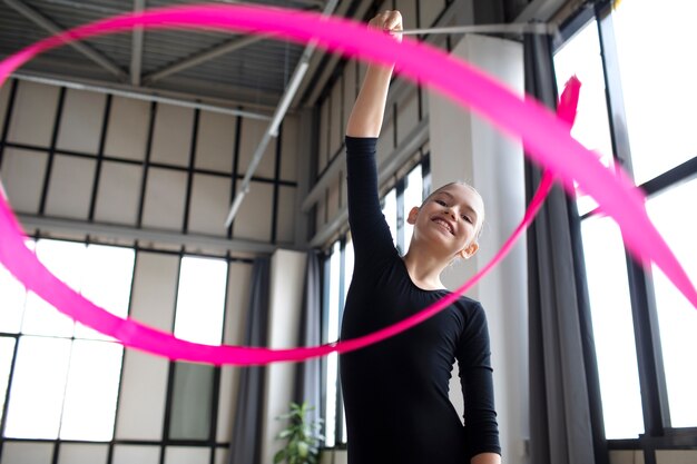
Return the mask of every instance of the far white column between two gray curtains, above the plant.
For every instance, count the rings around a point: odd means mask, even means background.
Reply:
[[[278,249],[271,259],[268,299],[268,346],[297,346],[297,333],[303,303],[306,255]],[[266,369],[264,441],[262,462],[273,463],[274,454],[283,446],[276,436],[285,425],[276,417],[288,411],[295,384],[295,363],[274,363]]]

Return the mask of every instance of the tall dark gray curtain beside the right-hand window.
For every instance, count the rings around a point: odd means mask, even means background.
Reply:
[[[549,38],[528,34],[524,57],[526,91],[554,108]],[[527,164],[528,199],[540,178]],[[529,230],[528,273],[530,462],[607,464],[580,223],[558,186]]]

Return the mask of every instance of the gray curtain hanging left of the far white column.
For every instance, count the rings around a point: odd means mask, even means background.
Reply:
[[[266,346],[271,259],[256,258],[252,268],[252,292],[247,308],[244,344]],[[264,412],[265,366],[242,367],[228,464],[259,464]]]

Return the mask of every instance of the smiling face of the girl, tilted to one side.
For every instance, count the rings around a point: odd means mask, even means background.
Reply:
[[[438,246],[449,257],[469,258],[479,249],[477,235],[483,220],[480,195],[462,184],[449,184],[435,190],[421,208],[408,217],[414,226],[414,240]]]

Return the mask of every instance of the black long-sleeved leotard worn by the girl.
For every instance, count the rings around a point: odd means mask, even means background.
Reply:
[[[411,280],[377,197],[375,138],[346,137],[348,217],[355,251],[341,338],[393,324],[440,299]],[[448,391],[459,363],[462,425]],[[342,355],[350,464],[469,464],[500,453],[489,333],[467,297],[405,333]]]

